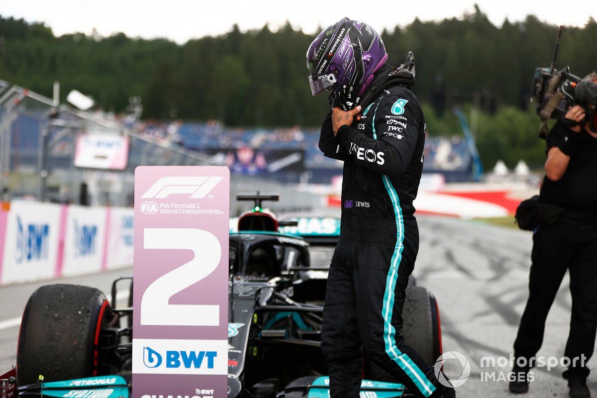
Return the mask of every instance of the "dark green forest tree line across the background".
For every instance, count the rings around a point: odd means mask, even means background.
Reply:
[[[527,146],[519,152],[531,164],[544,159],[529,94],[534,69],[550,64],[556,33],[556,26],[534,16],[495,26],[476,7],[440,22],[416,18],[381,36],[390,64],[401,64],[408,51],[415,55],[414,91],[426,109],[430,134],[461,134],[450,111],[474,106],[481,111],[476,134],[484,163],[493,166],[493,158],[501,158],[513,166],[520,159],[510,153],[513,145]],[[76,89],[114,112],[139,96],[145,119],[316,127],[327,98],[312,97],[307,83],[305,53],[313,37],[290,23],[277,32],[267,25],[241,32],[235,25],[225,35],[183,45],[124,33],[56,37],[43,23],[0,16],[0,79],[49,97],[53,82],[60,81],[62,100]],[[593,18],[583,28],[567,27],[558,67],[570,66],[578,76],[595,70],[595,39]]]

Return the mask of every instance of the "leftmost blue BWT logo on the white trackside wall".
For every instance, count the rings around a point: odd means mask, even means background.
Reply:
[[[17,263],[48,259],[48,239],[50,226],[48,224],[26,224],[23,226],[21,217],[17,215]]]

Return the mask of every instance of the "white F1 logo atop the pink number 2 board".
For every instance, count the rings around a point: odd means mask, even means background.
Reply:
[[[205,198],[223,177],[162,177],[141,195],[143,199],[163,199],[169,195],[186,193],[192,199]],[[213,198],[213,195],[209,196]]]

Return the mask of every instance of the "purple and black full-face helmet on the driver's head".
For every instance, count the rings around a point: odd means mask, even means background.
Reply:
[[[386,47],[373,27],[342,18],[319,33],[307,50],[311,92],[330,91],[330,104],[352,109],[386,60]]]

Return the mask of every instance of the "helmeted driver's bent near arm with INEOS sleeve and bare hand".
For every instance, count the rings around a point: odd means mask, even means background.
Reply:
[[[413,157],[420,123],[420,108],[410,91],[387,95],[369,110],[374,138],[350,127],[352,115],[333,110],[333,125],[343,148],[356,164],[371,171],[395,177],[402,174]],[[352,111],[351,111],[352,112]],[[350,120],[347,121],[347,116]]]

